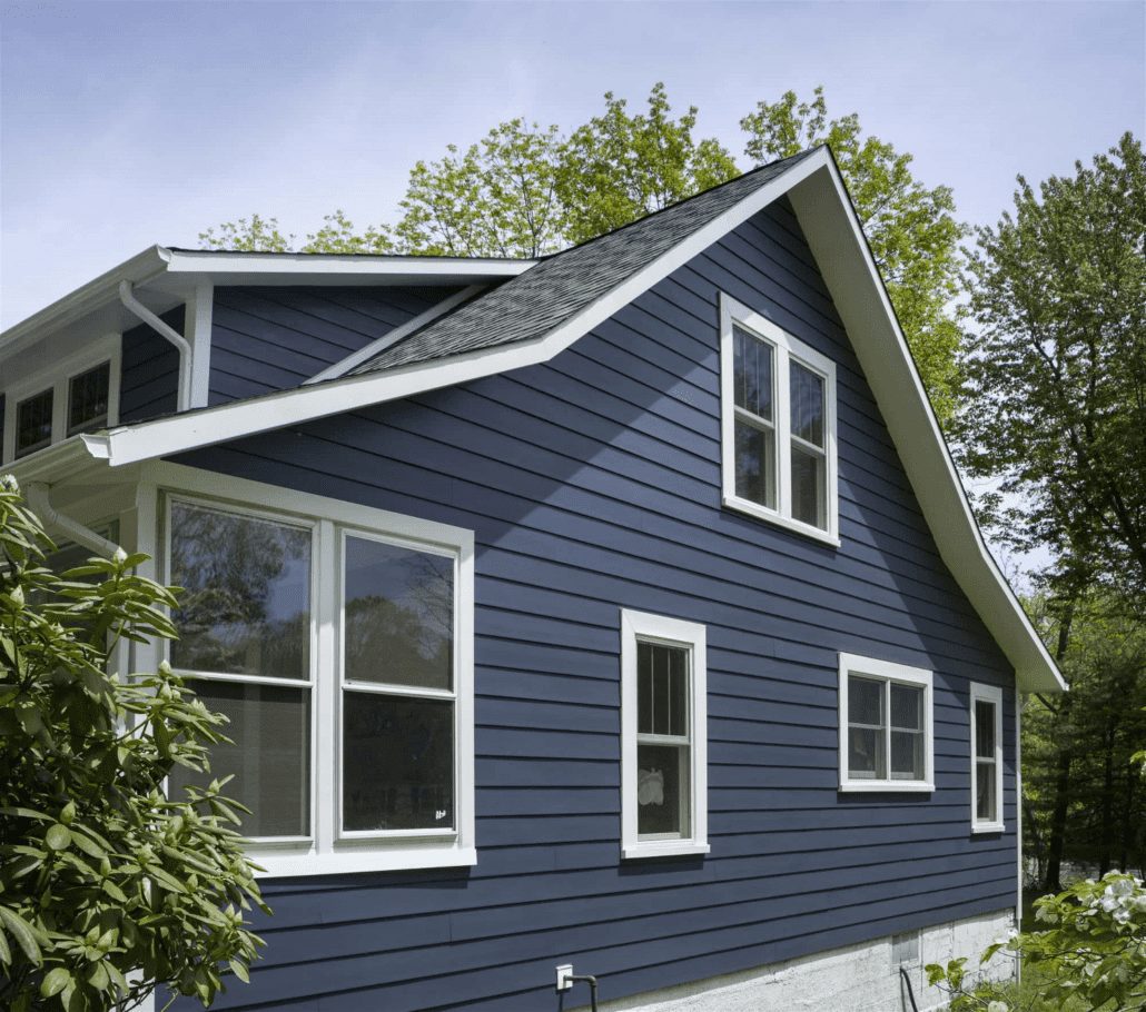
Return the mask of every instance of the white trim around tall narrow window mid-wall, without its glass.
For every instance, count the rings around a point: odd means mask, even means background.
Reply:
[[[689,680],[690,826],[685,838],[642,840],[637,834],[637,642],[683,646],[691,652]],[[621,857],[707,854],[708,706],[706,631],[697,622],[621,609]]]

